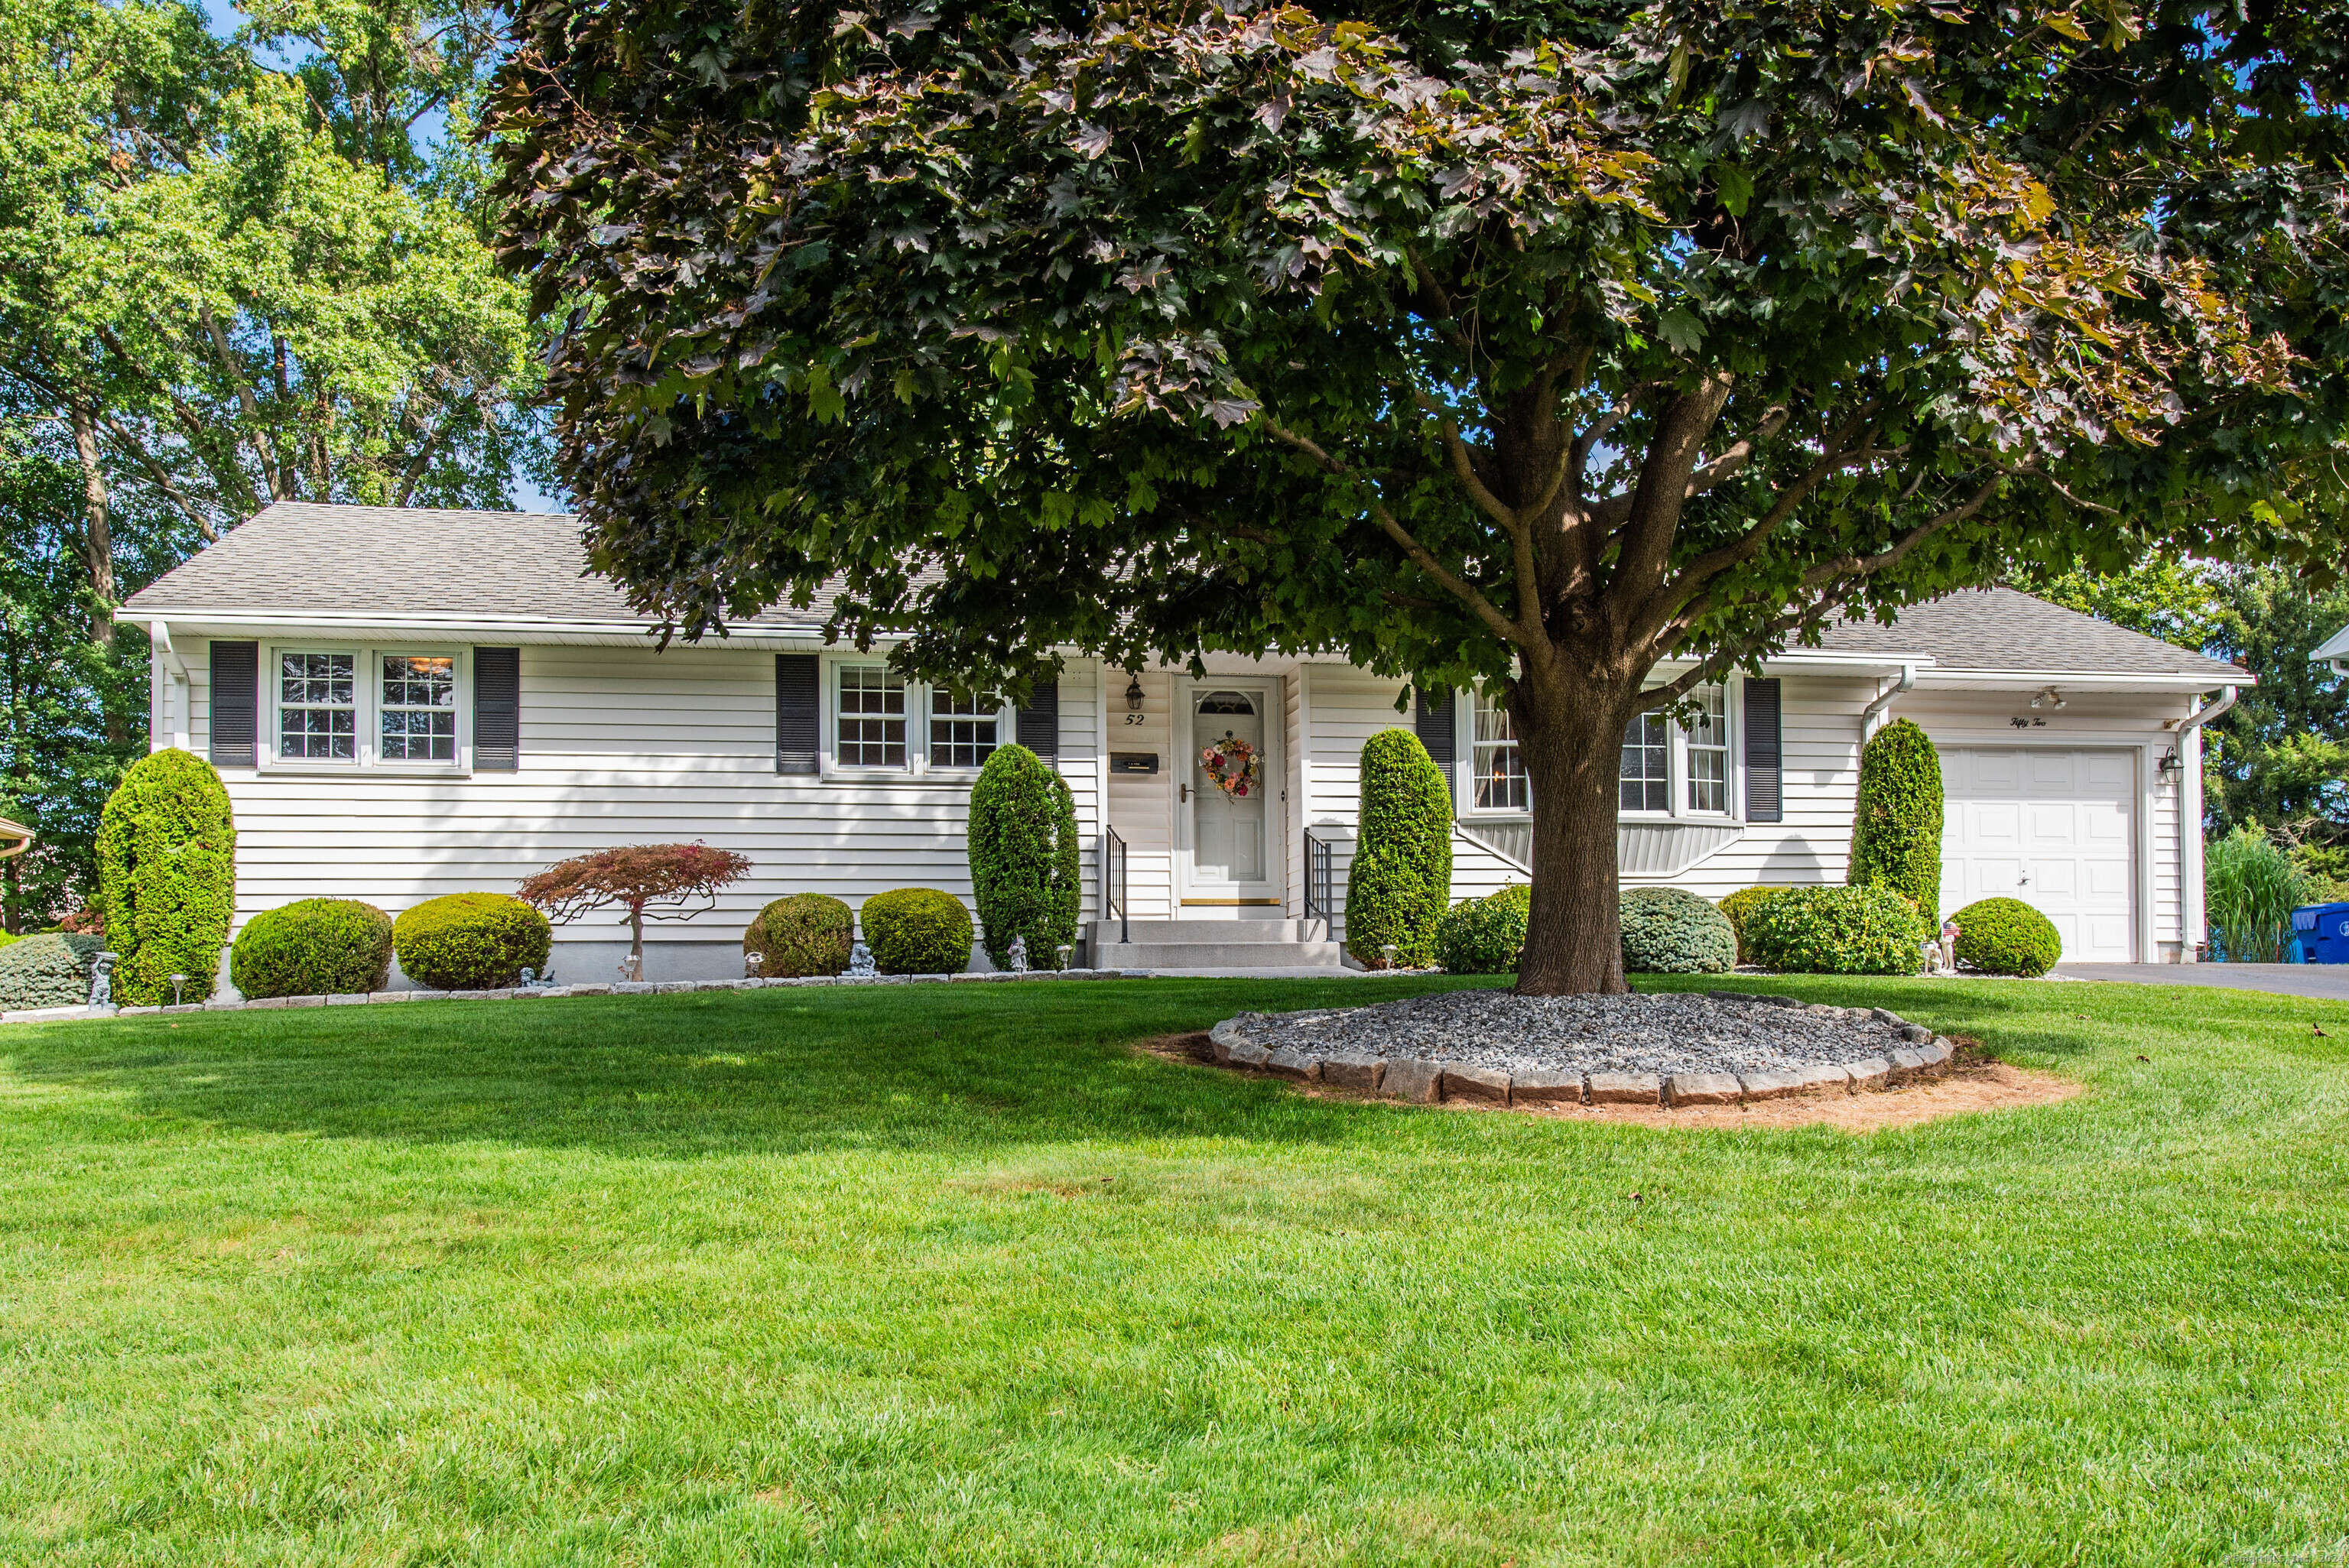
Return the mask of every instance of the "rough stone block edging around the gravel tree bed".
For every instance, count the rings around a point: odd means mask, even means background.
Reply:
[[[1764,1002],[1771,1007],[1813,1009],[1792,995],[1750,991],[1708,991],[1717,1002]],[[1842,1007],[1820,1007],[1842,1014]],[[1792,1094],[1858,1094],[1889,1089],[1950,1070],[1957,1045],[1924,1023],[1910,1023],[1896,1012],[1875,1007],[1867,1014],[1891,1023],[1907,1040],[1884,1056],[1851,1063],[1804,1063],[1785,1073],[1574,1073],[1550,1068],[1480,1068],[1423,1056],[1320,1056],[1297,1049],[1271,1049],[1247,1038],[1238,1019],[1224,1019],[1207,1030],[1217,1066],[1254,1068],[1304,1084],[1355,1089],[1412,1106],[1741,1106]]]

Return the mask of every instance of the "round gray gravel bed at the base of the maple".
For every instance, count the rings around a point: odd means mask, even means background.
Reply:
[[[1374,1007],[1243,1012],[1226,1033],[1304,1056],[1656,1075],[1849,1066],[1931,1040],[1931,1030],[1884,1009],[1684,991],[1564,998],[1442,991]]]

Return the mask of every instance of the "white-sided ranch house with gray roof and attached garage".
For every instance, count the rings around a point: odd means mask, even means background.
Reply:
[[[1076,793],[1099,965],[1337,965],[1355,765],[1393,723],[1452,777],[1452,894],[1529,876],[1508,725],[1475,692],[1398,714],[1395,681],[1344,662],[1130,681],[1078,657],[1024,711],[968,711],[827,648],[813,613],[655,650],[583,575],[568,516],[284,502],[122,617],[153,634],[153,744],[228,784],[240,925],[319,894],[397,913],[510,892],[583,850],[702,838],[756,871],[716,911],[648,927],[646,976],[731,976],[742,927],[787,892],[968,899],[970,782],[1015,737]],[[1947,908],[2013,894],[2067,958],[2189,962],[2199,725],[2248,681],[2013,589],[1844,624],[1715,688],[1710,721],[1626,735],[1623,878],[1705,897],[1839,883],[1860,744],[1903,716],[1943,756]],[[1261,746],[1266,789],[1245,800],[1198,768],[1226,735]],[[611,976],[622,937],[557,927],[557,976]]]

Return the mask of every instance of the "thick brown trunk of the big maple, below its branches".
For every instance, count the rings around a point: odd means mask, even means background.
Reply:
[[[1532,784],[1534,908],[1520,995],[1623,993],[1616,930],[1616,793],[1628,688],[1517,681],[1510,723]]]

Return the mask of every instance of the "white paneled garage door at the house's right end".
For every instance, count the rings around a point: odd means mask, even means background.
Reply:
[[[2138,768],[2131,751],[1945,746],[1940,908],[2022,899],[2062,955],[2138,955]]]

